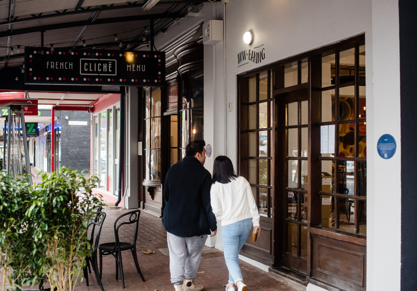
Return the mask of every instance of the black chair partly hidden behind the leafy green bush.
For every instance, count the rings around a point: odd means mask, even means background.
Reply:
[[[86,281],[87,286],[88,286],[88,271],[87,271],[87,268],[89,269],[89,271],[91,273],[91,269],[90,269],[90,264],[91,264],[91,268],[94,271],[94,275],[96,276],[97,283],[100,285],[101,291],[104,291],[104,289],[103,289],[103,284],[101,284],[100,272],[98,272],[97,248],[98,248],[98,242],[100,240],[101,227],[103,226],[103,222],[104,222],[105,219],[106,219],[106,213],[101,212],[101,211],[97,212],[94,215],[93,220],[87,226],[87,238],[88,238],[87,240],[88,240],[88,242],[91,243],[91,249],[90,249],[91,257],[85,258],[86,259],[86,265],[82,269],[85,281]],[[97,226],[97,232],[95,231],[96,226]],[[88,230],[90,228],[91,228],[91,233],[88,235]],[[94,240],[95,237],[96,237],[96,239]]]

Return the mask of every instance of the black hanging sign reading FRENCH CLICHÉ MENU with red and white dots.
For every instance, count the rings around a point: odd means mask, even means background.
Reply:
[[[25,48],[25,84],[165,85],[165,52]]]

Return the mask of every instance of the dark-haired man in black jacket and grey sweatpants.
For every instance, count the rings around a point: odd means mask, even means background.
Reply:
[[[203,165],[206,143],[193,141],[165,178],[162,224],[167,231],[171,282],[176,291],[201,291],[194,282],[207,235],[217,232],[210,205],[211,175]],[[184,280],[185,275],[185,280]]]

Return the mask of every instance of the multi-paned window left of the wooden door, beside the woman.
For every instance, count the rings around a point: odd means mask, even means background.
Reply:
[[[272,217],[272,78],[264,71],[241,80],[247,84],[242,94],[240,175],[248,179],[259,214]]]

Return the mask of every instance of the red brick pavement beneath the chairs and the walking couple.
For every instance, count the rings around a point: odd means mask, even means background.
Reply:
[[[105,209],[107,217],[103,225],[100,243],[111,242],[114,240],[113,222],[122,213],[128,210]],[[125,273],[126,291],[168,291],[174,290],[170,281],[169,257],[158,251],[159,248],[166,248],[166,231],[162,226],[160,218],[141,212],[140,226],[137,240],[137,254],[139,265],[146,282],[143,282],[137,273],[130,251],[123,252],[123,271]],[[125,229],[120,232],[121,240],[125,238],[130,241],[133,231]],[[144,254],[146,250],[155,251],[155,254]],[[207,248],[206,248],[207,249]],[[219,250],[212,248],[212,255],[217,255]],[[206,254],[206,251],[203,252]],[[201,259],[199,273],[195,278],[198,284],[203,284],[206,291],[223,291],[222,286],[227,282],[228,272],[223,256],[210,257],[209,254],[203,255]],[[242,275],[249,290],[257,291],[305,291],[305,287],[289,281],[286,278],[266,273],[246,262],[240,261]],[[122,283],[115,278],[115,261],[112,256],[103,257],[103,276],[102,283],[105,291],[123,290]],[[85,281],[79,282],[75,291],[100,291],[94,274],[89,274],[90,286],[86,286]]]

